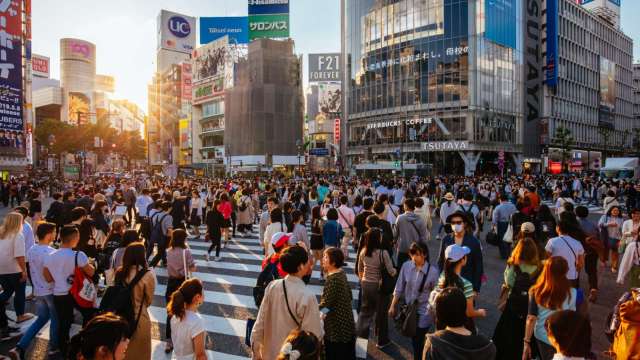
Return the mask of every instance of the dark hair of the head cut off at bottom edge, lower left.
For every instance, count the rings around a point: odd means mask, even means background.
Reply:
[[[115,353],[120,342],[127,339],[129,324],[114,313],[105,313],[91,319],[69,341],[66,359],[95,359],[105,349]]]

